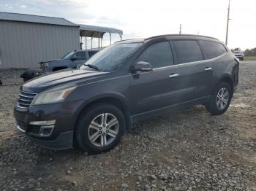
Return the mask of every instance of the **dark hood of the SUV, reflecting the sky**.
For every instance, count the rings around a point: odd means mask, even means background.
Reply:
[[[31,79],[21,87],[21,90],[26,92],[40,93],[44,90],[48,90],[59,85],[72,84],[100,78],[105,74],[108,74],[108,72],[68,69],[66,71],[53,72]]]

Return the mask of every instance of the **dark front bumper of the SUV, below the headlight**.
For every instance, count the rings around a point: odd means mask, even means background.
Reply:
[[[69,101],[29,106],[26,110],[15,106],[14,116],[17,128],[42,147],[70,149],[73,147],[73,131],[82,102]],[[42,122],[54,122],[54,124],[43,125]],[[53,129],[50,133],[44,134],[42,128]]]

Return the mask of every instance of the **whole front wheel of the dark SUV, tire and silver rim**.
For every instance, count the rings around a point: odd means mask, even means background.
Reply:
[[[91,154],[107,152],[116,147],[126,128],[123,112],[110,104],[96,104],[78,119],[75,144]]]

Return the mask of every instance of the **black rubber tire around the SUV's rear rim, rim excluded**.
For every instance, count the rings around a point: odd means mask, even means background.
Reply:
[[[219,109],[217,106],[217,94],[222,88],[225,88],[228,91],[229,97],[226,106],[223,109]],[[227,82],[220,82],[219,85],[215,87],[214,93],[211,95],[211,100],[206,104],[206,110],[213,115],[225,113],[230,105],[232,95],[233,92],[230,85]]]

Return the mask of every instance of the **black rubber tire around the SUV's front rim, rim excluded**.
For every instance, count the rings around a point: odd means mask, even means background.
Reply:
[[[119,130],[116,139],[108,144],[107,146],[97,147],[89,140],[89,125],[99,114],[108,113],[112,114],[118,120]],[[121,140],[121,136],[126,128],[126,120],[123,112],[118,107],[99,103],[90,106],[88,109],[83,111],[80,115],[76,128],[75,128],[75,146],[82,149],[83,151],[89,152],[90,154],[97,154],[101,152],[108,152],[113,147],[116,147],[118,142]],[[99,139],[101,139],[99,137]]]

